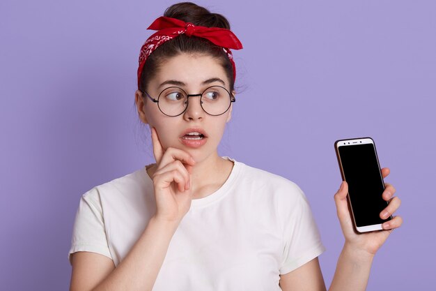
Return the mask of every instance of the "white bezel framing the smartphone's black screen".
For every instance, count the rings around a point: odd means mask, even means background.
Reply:
[[[382,176],[382,171],[380,170],[380,163],[378,161],[377,149],[375,148],[375,142],[371,137],[357,137],[357,138],[350,138],[347,140],[336,140],[336,142],[334,143],[336,157],[338,158],[339,169],[341,170],[342,181],[345,181],[345,174],[343,172],[343,167],[342,167],[342,163],[341,163],[341,156],[339,155],[339,147],[348,147],[351,145],[359,145],[359,144],[373,144],[374,151],[375,151],[375,159],[377,160],[377,165],[378,165],[378,169],[380,172],[380,177],[382,179],[382,184],[383,184],[383,189],[384,189],[384,180],[383,180],[383,176]],[[372,232],[375,230],[382,230],[383,229],[382,223],[375,224],[375,225],[364,225],[364,226],[358,227],[356,224],[356,220],[355,220],[355,214],[353,213],[352,204],[350,201],[350,195],[348,195],[348,193],[347,193],[347,201],[348,201],[348,209],[350,209],[350,214],[352,217],[352,222],[353,222],[353,225],[354,225],[355,230],[357,232],[364,233],[364,232]],[[392,217],[390,217],[388,219],[391,219],[391,218]]]

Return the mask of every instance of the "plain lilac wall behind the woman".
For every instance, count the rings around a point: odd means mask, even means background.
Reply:
[[[80,195],[152,161],[135,72],[146,27],[171,3],[0,2],[1,290],[67,290]],[[303,188],[326,283],[343,244],[333,143],[371,136],[405,223],[368,290],[434,290],[435,1],[198,3],[244,44],[220,153]]]

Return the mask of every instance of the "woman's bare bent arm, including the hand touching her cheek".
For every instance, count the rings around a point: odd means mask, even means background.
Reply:
[[[95,253],[72,256],[71,291],[152,290],[169,243],[192,202],[192,156],[180,149],[164,151],[152,128],[156,170],[153,186],[156,214],[136,244],[115,268],[109,258]]]

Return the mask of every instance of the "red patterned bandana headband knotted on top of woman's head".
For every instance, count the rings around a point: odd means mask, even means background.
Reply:
[[[150,54],[154,52],[159,45],[162,45],[162,43],[176,36],[180,36],[182,33],[185,33],[187,36],[205,38],[215,45],[222,47],[233,66],[233,80],[235,80],[235,61],[233,61],[233,54],[230,49],[240,50],[242,49],[242,43],[232,31],[218,27],[198,27],[190,22],[164,16],[157,18],[148,29],[157,30],[157,32],[150,36],[141,47],[141,52],[139,53],[138,87],[143,66],[146,64],[146,60]]]

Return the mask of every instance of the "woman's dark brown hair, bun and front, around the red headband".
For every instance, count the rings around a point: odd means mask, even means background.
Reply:
[[[184,22],[191,22],[192,24],[201,27],[230,29],[230,24],[228,23],[228,20],[226,20],[226,17],[217,13],[210,13],[206,8],[191,2],[176,3],[169,8],[166,8],[164,16],[176,18]],[[204,38],[186,36],[185,34],[166,41],[166,43],[157,47],[157,49],[150,54],[150,57],[148,57],[143,66],[141,80],[139,80],[139,90],[147,91],[148,83],[156,75],[159,66],[161,66],[166,59],[176,57],[181,53],[205,54],[216,58],[220,61],[221,66],[223,66],[226,71],[226,75],[230,82],[230,89],[233,91],[235,87],[235,82],[233,80],[233,67],[222,47],[219,47]]]

